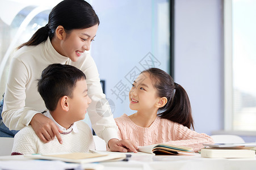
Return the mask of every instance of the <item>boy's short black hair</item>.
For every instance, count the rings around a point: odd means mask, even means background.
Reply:
[[[54,111],[63,96],[73,97],[78,80],[85,80],[85,74],[74,66],[54,63],[46,67],[38,79],[37,91],[49,111]]]

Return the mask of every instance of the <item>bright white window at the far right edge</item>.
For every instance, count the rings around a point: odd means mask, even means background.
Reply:
[[[225,130],[256,130],[256,1],[225,2]]]

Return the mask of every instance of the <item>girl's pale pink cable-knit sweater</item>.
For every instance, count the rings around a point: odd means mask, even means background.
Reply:
[[[137,126],[126,114],[115,118],[115,121],[119,127],[119,139],[130,139],[137,146],[170,143],[192,147],[194,151],[198,151],[203,147],[203,143],[214,143],[207,134],[197,133],[181,124],[158,116],[149,128]]]

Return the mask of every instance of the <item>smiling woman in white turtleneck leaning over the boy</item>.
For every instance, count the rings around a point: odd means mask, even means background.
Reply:
[[[46,110],[36,88],[36,79],[52,63],[72,65],[87,76],[88,95],[92,102],[88,113],[92,127],[112,151],[134,151],[133,143],[118,141],[117,126],[100,86],[98,70],[87,53],[96,36],[99,18],[93,7],[84,0],[65,0],[49,14],[48,24],[35,32],[28,42],[20,45],[11,61],[0,136],[13,137],[16,131],[31,125],[43,142],[55,136],[62,143],[61,129],[42,112]],[[98,106],[99,108],[96,108]],[[104,114],[104,116],[102,116]],[[4,124],[3,124],[4,122]],[[6,127],[6,126],[8,127]],[[10,130],[9,130],[10,129]]]

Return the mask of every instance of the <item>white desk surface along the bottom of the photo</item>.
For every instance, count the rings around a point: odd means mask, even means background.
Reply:
[[[10,160],[11,159],[11,160]],[[9,164],[10,167],[16,162],[19,169],[30,169],[33,164],[36,169],[65,169],[77,167],[78,164],[63,163],[58,161],[47,161],[47,160],[28,160],[22,155],[17,156],[0,156],[0,167],[2,163]],[[23,167],[22,167],[23,166]],[[27,166],[27,167],[26,167]],[[229,169],[256,169],[256,158],[254,159],[213,159],[213,158],[201,158],[200,154],[195,156],[154,156],[149,154],[132,154],[128,162],[105,162],[105,163],[93,163],[87,164],[89,167],[104,170],[153,170],[153,169],[195,169],[195,170],[229,170]],[[86,167],[85,166],[85,167]],[[0,168],[1,169],[1,168]],[[35,168],[33,168],[35,169]]]

